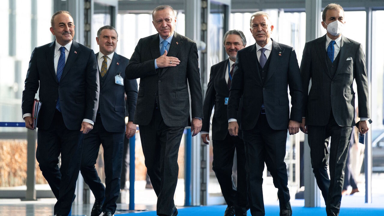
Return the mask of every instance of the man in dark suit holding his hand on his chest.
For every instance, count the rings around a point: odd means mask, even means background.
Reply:
[[[172,7],[156,7],[152,20],[159,33],[139,40],[125,72],[129,79],[140,78],[134,123],[140,128],[147,173],[157,195],[157,214],[175,216],[180,140],[185,126],[191,124],[195,136],[202,125],[199,62],[196,43],[174,31]]]

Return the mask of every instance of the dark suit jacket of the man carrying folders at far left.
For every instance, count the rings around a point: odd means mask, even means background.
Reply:
[[[25,78],[22,111],[31,113],[39,89],[42,103],[37,127],[48,129],[60,96],[65,126],[80,130],[84,118],[95,121],[99,100],[98,65],[93,50],[73,40],[60,83],[56,78],[53,56],[55,41],[36,47]]]

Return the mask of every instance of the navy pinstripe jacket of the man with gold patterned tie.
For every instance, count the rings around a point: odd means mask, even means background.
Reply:
[[[96,59],[98,54],[96,53]],[[128,62],[129,59],[114,53],[105,80],[100,85],[99,111],[103,126],[108,132],[125,131],[124,92],[127,94],[129,120],[133,121],[137,100],[137,82],[136,80],[129,80],[125,76],[124,71]],[[115,76],[117,75],[122,76],[124,86],[115,83]]]

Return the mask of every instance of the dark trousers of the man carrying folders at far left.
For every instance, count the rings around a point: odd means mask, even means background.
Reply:
[[[39,128],[37,131],[36,160],[57,199],[54,214],[68,215],[71,211],[80,169],[83,137],[80,130],[66,128],[58,110],[55,111],[49,129]]]

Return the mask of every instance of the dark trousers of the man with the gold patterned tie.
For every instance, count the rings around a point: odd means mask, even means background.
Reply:
[[[120,173],[124,132],[112,133],[105,130],[100,117],[96,117],[93,130],[84,136],[81,175],[88,184],[95,199],[104,200],[103,211],[116,211],[116,200],[120,194]],[[104,149],[105,185],[95,169],[100,144]]]

